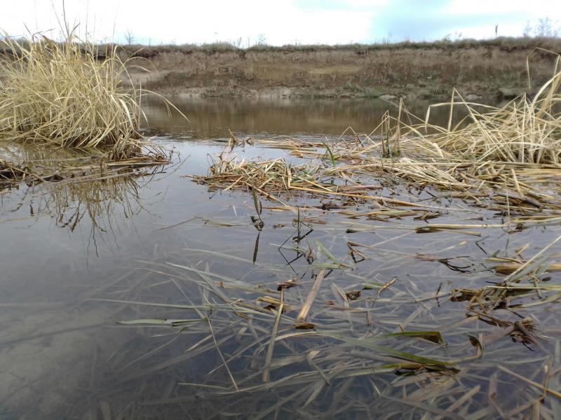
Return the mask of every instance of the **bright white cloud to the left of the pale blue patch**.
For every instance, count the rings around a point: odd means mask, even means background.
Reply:
[[[4,0],[6,1],[6,0]],[[58,15],[62,1],[54,1]],[[153,43],[234,41],[255,43],[346,43],[367,41],[372,13],[363,10],[380,0],[354,0],[347,10],[298,7],[294,1],[133,1],[67,0],[67,20],[79,22],[79,32],[95,39],[118,38],[130,30],[137,40]],[[48,0],[6,1],[0,27],[9,34],[59,29]],[[86,25],[87,23],[87,25]]]

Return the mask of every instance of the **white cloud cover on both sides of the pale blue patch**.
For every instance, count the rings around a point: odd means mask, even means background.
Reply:
[[[59,32],[50,0],[1,0],[0,28],[11,35],[54,28]],[[62,0],[53,0],[62,14]],[[561,1],[547,2],[550,16],[561,16]],[[557,3],[559,3],[557,5]],[[67,20],[79,23],[79,34],[86,28],[95,41],[124,41],[130,31],[142,43],[208,43],[236,41],[253,44],[261,38],[272,45],[285,43],[372,42],[372,22],[381,9],[398,16],[407,10],[391,9],[388,0],[347,1],[171,1],[171,0],[66,0]],[[412,2],[409,11],[419,9]],[[478,16],[518,14],[522,18],[499,25],[499,34],[520,35],[526,20],[536,20],[543,8],[536,1],[522,0],[450,0],[438,13],[449,16],[468,15],[473,25],[457,31],[464,36],[488,37],[489,27],[482,27]],[[422,13],[419,19],[423,19]],[[391,29],[390,29],[391,31]],[[400,39],[394,39],[400,41]]]

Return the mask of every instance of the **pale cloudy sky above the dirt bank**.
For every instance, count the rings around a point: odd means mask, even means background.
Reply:
[[[448,36],[522,36],[561,1],[546,0],[66,0],[69,24],[95,42],[146,45],[230,42],[346,44],[434,41]],[[11,36],[60,36],[62,0],[0,0],[0,29]],[[50,30],[50,32],[49,32]]]

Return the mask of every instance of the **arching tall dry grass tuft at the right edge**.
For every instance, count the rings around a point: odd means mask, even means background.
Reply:
[[[501,108],[466,102],[454,90],[452,100],[435,106],[449,106],[447,127],[428,124],[432,141],[454,157],[478,162],[511,162],[532,164],[561,163],[561,56],[555,71],[533,99],[523,95]],[[452,114],[458,107],[468,116],[452,126]],[[484,109],[485,111],[478,111]],[[419,127],[415,127],[418,132]],[[417,133],[416,133],[417,135]]]

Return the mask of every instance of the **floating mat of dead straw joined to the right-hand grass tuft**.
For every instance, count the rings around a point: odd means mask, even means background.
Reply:
[[[381,188],[391,176],[406,181],[410,188],[438,188],[445,192],[443,196],[461,198],[509,218],[536,214],[555,218],[561,210],[559,68],[557,57],[553,77],[533,99],[523,96],[501,108],[466,102],[454,90],[451,101],[429,107],[424,120],[400,102],[397,116],[386,113],[370,134],[357,134],[349,127],[338,141],[257,139],[260,146],[283,148],[316,163],[291,169],[283,160],[234,164],[220,155],[209,175],[197,181],[214,189],[252,187],[269,198],[271,193],[302,190],[403,205],[371,195],[372,187],[362,181],[377,179],[375,188]],[[432,125],[431,110],[443,106],[450,108],[447,127]],[[466,116],[454,121],[457,111]],[[309,172],[311,166],[313,172]],[[276,188],[264,191],[266,186]]]

